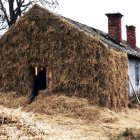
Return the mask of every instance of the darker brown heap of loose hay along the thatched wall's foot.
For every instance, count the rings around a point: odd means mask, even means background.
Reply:
[[[77,97],[39,94],[31,105],[27,104],[27,96],[1,93],[0,97],[0,104],[9,108],[23,107],[25,111],[45,113],[52,116],[62,115],[87,121],[95,121],[100,116],[98,107],[90,105],[87,99]]]

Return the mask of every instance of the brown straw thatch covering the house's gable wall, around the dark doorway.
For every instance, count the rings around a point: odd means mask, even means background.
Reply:
[[[88,97],[109,108],[127,105],[127,55],[35,5],[0,41],[0,88],[31,92],[31,66],[51,66],[53,92]]]

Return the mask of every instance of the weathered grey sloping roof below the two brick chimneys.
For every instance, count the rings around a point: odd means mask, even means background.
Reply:
[[[113,48],[116,51],[125,52],[130,56],[140,58],[139,48],[137,47],[137,48],[133,49],[129,44],[127,44],[127,42],[125,40],[122,40],[121,43],[118,43],[116,40],[114,40],[113,38],[108,36],[107,33],[103,32],[101,30],[98,30],[98,29],[92,28],[90,26],[81,24],[77,21],[71,20],[71,19],[66,18],[66,17],[61,16],[61,18],[63,18],[64,20],[67,20],[70,24],[73,24],[78,29],[80,29],[80,30],[82,30],[90,35],[96,36],[99,40],[101,40],[109,48]]]

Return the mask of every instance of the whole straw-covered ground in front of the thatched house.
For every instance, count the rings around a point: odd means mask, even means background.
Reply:
[[[28,105],[27,96],[0,93],[0,140],[131,140],[121,135],[126,129],[140,133],[138,109],[115,112],[87,99],[46,94]]]

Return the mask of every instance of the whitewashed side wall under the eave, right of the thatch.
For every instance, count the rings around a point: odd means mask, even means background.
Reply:
[[[135,65],[139,66],[139,85],[136,85]],[[129,76],[129,95],[133,96],[134,91],[140,91],[140,60],[130,59],[128,62],[128,76]],[[130,83],[131,82],[131,83]]]

